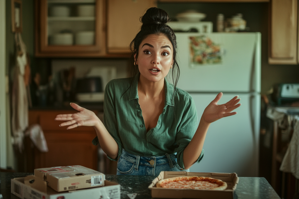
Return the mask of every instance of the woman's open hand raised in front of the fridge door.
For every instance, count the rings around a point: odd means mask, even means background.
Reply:
[[[241,99],[237,99],[238,96],[236,96],[225,104],[217,104],[222,95],[222,93],[219,93],[216,98],[205,108],[205,111],[202,114],[202,119],[205,122],[212,123],[222,117],[228,117],[237,114],[237,112],[231,111],[235,110],[241,105],[238,104]]]

